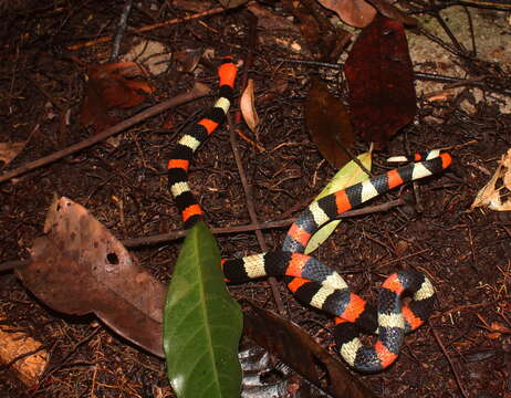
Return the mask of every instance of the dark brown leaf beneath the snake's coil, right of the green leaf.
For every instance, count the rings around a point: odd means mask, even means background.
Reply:
[[[277,355],[309,381],[336,398],[374,398],[358,378],[298,325],[249,302],[244,311],[244,333],[260,346]],[[328,385],[317,369],[325,371]]]

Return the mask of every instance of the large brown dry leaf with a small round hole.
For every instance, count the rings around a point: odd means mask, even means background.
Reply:
[[[42,302],[65,314],[96,314],[114,332],[163,356],[165,286],[85,208],[62,197],[48,212],[31,263],[17,270]]]

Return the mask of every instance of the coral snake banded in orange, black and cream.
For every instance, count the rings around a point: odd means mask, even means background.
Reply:
[[[202,217],[202,209],[188,185],[189,165],[198,147],[226,118],[236,74],[232,59],[225,59],[219,67],[219,100],[185,132],[168,163],[170,190],[185,228]],[[351,292],[337,272],[304,254],[304,250],[311,235],[340,213],[403,184],[440,172],[450,163],[448,154],[436,153],[424,161],[399,167],[312,202],[292,224],[281,251],[222,260],[226,280],[240,283],[268,275],[286,276],[288,286],[298,300],[336,316],[334,336],[350,366],[364,373],[385,369],[396,359],[405,334],[429,316],[435,300],[431,282],[414,270],[394,273],[382,284],[375,310]],[[405,292],[411,294],[407,305],[400,300]],[[358,338],[361,332],[377,334],[376,342],[363,345]]]

